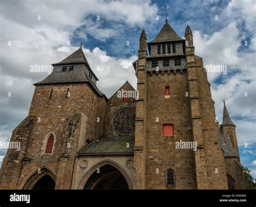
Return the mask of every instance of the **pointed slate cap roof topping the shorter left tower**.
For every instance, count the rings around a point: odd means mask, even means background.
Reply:
[[[77,51],[70,54],[69,57],[65,58],[64,60],[60,61],[59,63],[55,63],[52,65],[55,66],[55,65],[74,64],[74,63],[85,63],[89,66],[89,63],[86,60],[84,52],[82,50],[82,45],[79,47],[79,49]]]

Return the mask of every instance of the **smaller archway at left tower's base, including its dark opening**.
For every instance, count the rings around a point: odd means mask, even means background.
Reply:
[[[47,167],[35,170],[23,184],[22,189],[41,189],[41,190],[54,190],[56,183],[55,173]]]

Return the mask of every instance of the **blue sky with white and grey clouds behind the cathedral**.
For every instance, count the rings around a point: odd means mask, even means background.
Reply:
[[[169,23],[180,37],[191,26],[204,65],[227,66],[226,74],[208,72],[217,118],[221,123],[225,99],[237,125],[241,162],[256,177],[255,0],[0,1],[1,141],[9,141],[28,115],[32,84],[48,75],[30,72],[30,66],[58,63],[80,43],[107,97],[126,80],[136,87],[131,63],[140,31],[146,30],[148,40],[156,37],[166,3]],[[5,153],[0,149],[0,165]]]

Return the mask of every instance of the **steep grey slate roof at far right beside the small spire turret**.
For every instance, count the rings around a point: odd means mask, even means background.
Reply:
[[[219,137],[220,137],[220,146],[224,151],[225,157],[237,157],[237,151],[235,151],[233,144],[231,142],[230,136],[228,134],[223,133],[221,129],[219,129]]]

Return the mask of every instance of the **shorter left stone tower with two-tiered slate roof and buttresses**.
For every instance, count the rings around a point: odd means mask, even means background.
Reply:
[[[104,134],[107,99],[96,87],[82,44],[52,65],[53,72],[34,84],[29,115],[12,133],[21,150],[8,149],[1,189],[36,189],[45,175],[56,183],[49,189],[70,189],[77,151]]]

